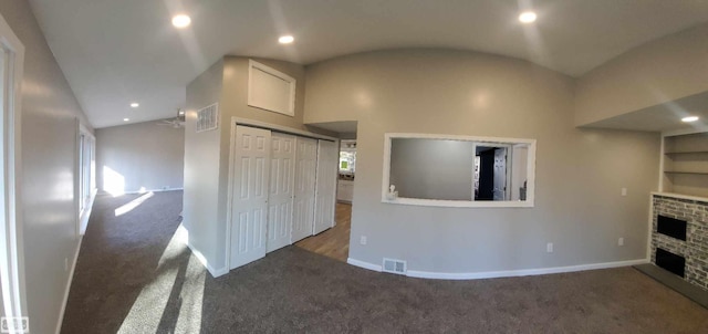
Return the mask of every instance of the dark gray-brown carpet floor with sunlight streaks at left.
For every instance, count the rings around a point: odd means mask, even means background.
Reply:
[[[475,281],[358,269],[288,247],[212,279],[170,239],[181,192],[96,199],[62,333],[708,333],[632,268]]]

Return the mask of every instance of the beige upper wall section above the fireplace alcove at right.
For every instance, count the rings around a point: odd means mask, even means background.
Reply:
[[[648,42],[577,82],[577,126],[708,91],[708,23]]]

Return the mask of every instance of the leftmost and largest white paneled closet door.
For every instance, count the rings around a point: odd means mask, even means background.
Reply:
[[[270,131],[236,127],[230,269],[266,257]]]

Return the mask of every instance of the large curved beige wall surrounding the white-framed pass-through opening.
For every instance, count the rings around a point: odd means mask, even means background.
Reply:
[[[305,123],[358,121],[350,257],[462,273],[644,259],[659,136],[577,129],[573,96],[568,76],[472,52],[383,51],[308,66]],[[537,139],[535,207],[382,203],[388,132]]]

